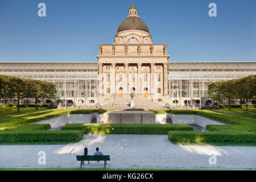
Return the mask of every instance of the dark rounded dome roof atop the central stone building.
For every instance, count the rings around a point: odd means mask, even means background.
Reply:
[[[136,16],[130,16],[123,20],[117,29],[117,33],[123,30],[142,30],[149,33],[147,24]]]

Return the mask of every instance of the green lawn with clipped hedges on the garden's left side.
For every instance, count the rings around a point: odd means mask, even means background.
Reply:
[[[49,109],[39,107],[20,108],[18,113],[16,108],[0,108],[0,143],[20,144],[22,142],[38,144],[56,144],[78,142],[82,139],[81,131],[47,131],[48,124],[29,125],[29,123],[56,117],[63,114],[89,114],[104,113],[106,110],[77,110],[77,109]]]

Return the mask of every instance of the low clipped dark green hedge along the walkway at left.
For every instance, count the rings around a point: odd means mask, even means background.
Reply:
[[[82,131],[3,131],[0,142],[77,142],[83,137]]]

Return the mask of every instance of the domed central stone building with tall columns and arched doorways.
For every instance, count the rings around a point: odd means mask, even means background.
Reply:
[[[129,9],[127,19],[130,18],[139,23],[122,22],[114,43],[99,46],[96,57],[100,71],[100,102],[106,97],[125,97],[131,93],[135,97],[162,100],[168,97],[167,60],[170,55],[167,55],[167,45],[152,43],[148,28],[139,19],[134,6]]]

